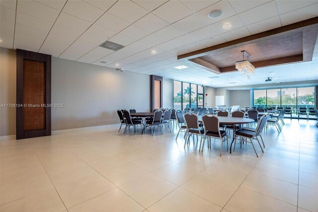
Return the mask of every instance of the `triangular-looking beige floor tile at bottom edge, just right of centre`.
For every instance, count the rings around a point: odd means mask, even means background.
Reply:
[[[148,208],[150,212],[220,212],[221,207],[178,188]]]

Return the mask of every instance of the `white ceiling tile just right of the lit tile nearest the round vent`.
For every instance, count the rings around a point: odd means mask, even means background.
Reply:
[[[245,12],[239,13],[245,25],[249,25],[258,21],[262,21],[278,15],[275,1],[271,1]]]

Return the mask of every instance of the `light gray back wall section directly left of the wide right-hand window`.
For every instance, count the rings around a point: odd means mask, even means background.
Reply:
[[[229,90],[230,106],[239,105],[242,108],[250,107],[250,90]]]

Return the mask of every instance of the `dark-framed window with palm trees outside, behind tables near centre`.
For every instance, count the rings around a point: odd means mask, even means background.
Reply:
[[[173,108],[175,110],[203,107],[204,105],[204,87],[201,85],[174,81],[173,95]]]

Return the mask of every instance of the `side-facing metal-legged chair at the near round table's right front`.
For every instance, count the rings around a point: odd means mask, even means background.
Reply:
[[[257,124],[257,127],[256,127],[256,129],[255,129],[255,132],[253,132],[253,131],[248,131],[248,130],[243,130],[243,129],[242,129],[242,130],[238,130],[238,131],[235,133],[234,149],[233,149],[233,151],[235,151],[235,146],[236,146],[237,139],[238,139],[238,137],[240,137],[240,138],[242,138],[242,139],[246,139],[246,140],[245,140],[246,142],[249,142],[249,143],[252,144],[253,149],[254,149],[255,154],[256,154],[256,157],[258,157],[258,154],[257,154],[256,149],[255,149],[255,146],[254,146],[254,144],[253,144],[253,140],[256,140],[256,141],[258,142],[260,149],[262,150],[262,152],[264,152],[264,150],[263,150],[263,148],[262,148],[262,146],[261,146],[261,144],[260,144],[260,142],[259,142],[259,140],[258,140],[258,138],[257,138],[257,135],[260,134],[260,132],[261,132],[261,130],[262,130],[262,127],[264,127],[264,125],[265,125],[265,121],[266,121],[266,119],[264,119],[264,116],[262,116],[261,119],[259,120],[258,124]],[[247,141],[247,139],[248,139],[249,141]],[[240,147],[242,147],[242,142],[240,143]]]

